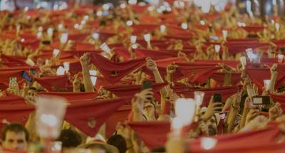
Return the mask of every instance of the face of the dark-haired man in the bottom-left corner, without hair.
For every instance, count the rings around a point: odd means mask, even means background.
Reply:
[[[13,149],[18,151],[26,151],[28,142],[24,132],[6,132],[6,139],[3,142],[3,147],[6,149]]]

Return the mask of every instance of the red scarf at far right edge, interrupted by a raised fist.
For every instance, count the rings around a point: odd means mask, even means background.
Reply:
[[[252,80],[252,82],[259,88],[259,93],[262,92],[262,88],[264,87],[264,80],[270,80],[271,78],[270,68],[246,68],[245,71],[249,75],[249,78]],[[277,67],[277,72],[278,77],[276,80],[275,88],[279,88],[279,86],[284,83],[285,67],[279,65]]]

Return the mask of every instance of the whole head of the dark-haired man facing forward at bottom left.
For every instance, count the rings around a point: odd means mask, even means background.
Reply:
[[[19,123],[11,123],[2,131],[2,146],[5,149],[26,151],[28,147],[28,130]]]

